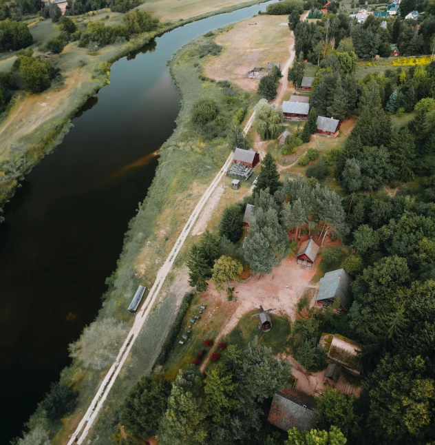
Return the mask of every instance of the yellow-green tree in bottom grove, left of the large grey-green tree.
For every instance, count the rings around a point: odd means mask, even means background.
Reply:
[[[237,406],[233,393],[237,383],[233,382],[233,375],[222,375],[219,368],[207,373],[204,380],[204,393],[206,394],[207,412],[213,422],[222,424],[229,418],[229,411]]]

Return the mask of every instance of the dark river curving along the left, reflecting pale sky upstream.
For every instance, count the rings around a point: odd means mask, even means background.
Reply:
[[[272,1],[268,2],[272,3]],[[19,435],[94,320],[105,278],[175,128],[167,60],[184,43],[268,3],[176,28],[112,65],[56,151],[25,178],[0,226],[0,444]]]

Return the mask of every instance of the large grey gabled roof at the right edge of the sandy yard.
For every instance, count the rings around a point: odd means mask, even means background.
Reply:
[[[341,306],[349,310],[352,305],[352,293],[350,291],[352,278],[344,269],[327,272],[320,279],[320,289],[317,293],[317,301],[339,298]]]

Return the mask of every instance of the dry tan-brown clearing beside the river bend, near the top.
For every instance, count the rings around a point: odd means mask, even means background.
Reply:
[[[279,62],[283,67],[288,60],[292,38],[288,26],[281,25],[286,18],[259,15],[241,21],[221,34],[215,41],[224,49],[219,56],[206,62],[206,76],[231,81],[244,90],[256,90],[259,80],[248,79],[248,71],[255,67],[266,68],[268,62]]]

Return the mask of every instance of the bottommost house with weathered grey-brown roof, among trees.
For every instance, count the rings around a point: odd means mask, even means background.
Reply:
[[[268,422],[283,431],[297,428],[300,431],[315,428],[317,421],[316,400],[312,395],[297,389],[283,389],[273,396]]]

